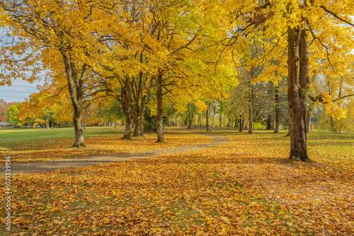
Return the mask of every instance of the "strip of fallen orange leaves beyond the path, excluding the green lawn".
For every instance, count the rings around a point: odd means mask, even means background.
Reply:
[[[35,163],[46,160],[59,160],[79,156],[106,155],[113,153],[137,153],[159,148],[187,146],[190,143],[207,143],[209,136],[198,134],[169,134],[168,143],[155,143],[156,134],[145,134],[144,137],[132,137],[132,141],[122,140],[121,134],[106,136],[89,136],[85,138],[86,148],[72,148],[73,138],[49,138],[40,141],[23,141],[10,150],[0,150],[1,156],[10,155],[14,163]],[[4,163],[1,163],[4,165]]]

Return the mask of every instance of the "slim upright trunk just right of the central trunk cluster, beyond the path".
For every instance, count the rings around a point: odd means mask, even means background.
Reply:
[[[164,137],[164,110],[162,110],[162,97],[164,93],[162,92],[162,73],[160,72],[157,76],[156,81],[156,100],[157,100],[157,110],[156,110],[156,131],[157,140],[156,143],[166,143]]]

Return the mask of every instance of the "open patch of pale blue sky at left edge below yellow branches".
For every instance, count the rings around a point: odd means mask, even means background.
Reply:
[[[29,83],[23,80],[13,80],[11,86],[0,86],[0,98],[6,102],[23,102],[31,93],[39,92],[38,84],[41,82]]]

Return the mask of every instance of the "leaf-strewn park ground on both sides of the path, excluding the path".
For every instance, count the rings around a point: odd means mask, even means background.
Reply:
[[[121,141],[122,130],[92,128],[75,151],[69,130],[0,130],[1,155],[28,163],[211,141],[203,129],[167,129],[169,143],[154,144],[154,134]],[[13,177],[11,235],[354,235],[354,134],[312,132],[315,163],[297,163],[285,131],[255,133],[215,128],[229,142]]]

